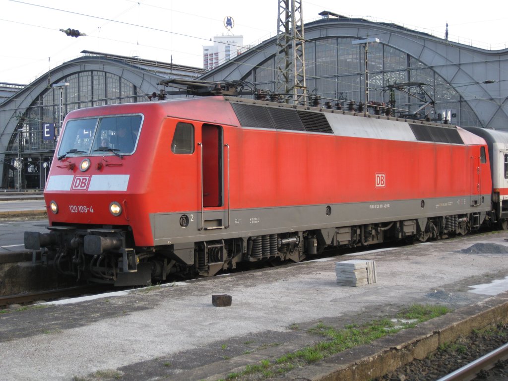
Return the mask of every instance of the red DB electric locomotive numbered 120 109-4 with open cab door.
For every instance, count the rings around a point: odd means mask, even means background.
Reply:
[[[117,285],[328,246],[442,237],[491,209],[485,140],[457,126],[228,97],[69,113],[25,234],[62,272]]]

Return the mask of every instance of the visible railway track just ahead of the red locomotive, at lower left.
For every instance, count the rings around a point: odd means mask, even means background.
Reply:
[[[0,309],[13,304],[30,304],[38,300],[50,301],[64,297],[76,297],[84,294],[97,294],[109,290],[104,284],[89,284],[65,289],[0,296]]]

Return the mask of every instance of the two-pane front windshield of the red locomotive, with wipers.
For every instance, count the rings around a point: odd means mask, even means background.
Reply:
[[[57,155],[131,154],[136,148],[142,121],[142,115],[69,120],[60,138]]]

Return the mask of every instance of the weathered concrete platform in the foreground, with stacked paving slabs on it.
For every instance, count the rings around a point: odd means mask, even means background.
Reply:
[[[506,319],[505,239],[508,232],[488,233],[0,313],[0,374],[213,381],[315,343],[320,337],[307,330],[318,322],[340,328],[412,303],[455,309],[277,379],[374,377],[383,370],[380,354],[395,366],[499,315]],[[485,245],[461,251],[477,243]],[[338,286],[335,262],[356,258],[375,261],[376,283]],[[220,294],[231,295],[231,306],[212,305]]]

